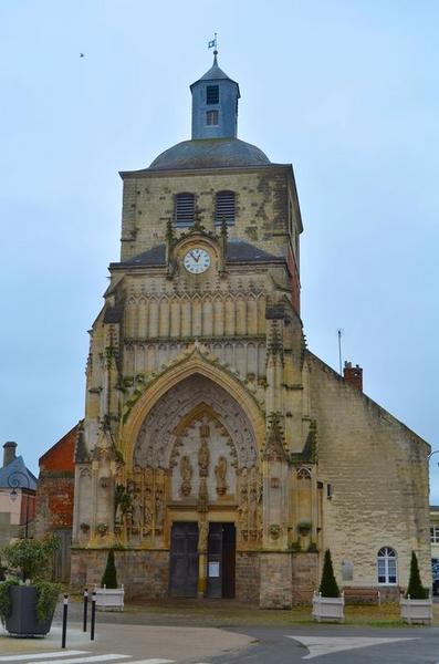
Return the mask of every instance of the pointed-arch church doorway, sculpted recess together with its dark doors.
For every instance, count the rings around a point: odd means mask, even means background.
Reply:
[[[137,542],[168,549],[169,594],[233,598],[237,544],[257,546],[260,519],[258,449],[241,406],[206,376],[185,378],[145,418],[133,467],[160,476],[163,528],[151,522]]]

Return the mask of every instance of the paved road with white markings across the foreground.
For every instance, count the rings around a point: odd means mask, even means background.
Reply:
[[[71,623],[67,651],[61,627],[48,639],[0,633],[0,664],[439,664],[439,629],[369,629],[343,625],[249,626],[221,630],[125,624],[128,614],[101,620],[91,642]]]

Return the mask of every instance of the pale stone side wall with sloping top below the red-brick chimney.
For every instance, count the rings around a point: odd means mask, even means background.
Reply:
[[[322,550],[331,549],[339,585],[342,562],[351,562],[349,587],[376,587],[381,547],[397,553],[400,587],[408,583],[412,550],[429,585],[428,446],[317,357],[307,353],[306,362],[318,478],[333,487],[323,499]]]

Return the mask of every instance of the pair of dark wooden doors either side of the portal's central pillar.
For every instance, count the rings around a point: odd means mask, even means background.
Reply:
[[[206,595],[208,598],[234,598],[234,525],[209,523],[206,561]],[[195,521],[175,522],[170,546],[170,595],[196,598],[198,572],[198,523]]]

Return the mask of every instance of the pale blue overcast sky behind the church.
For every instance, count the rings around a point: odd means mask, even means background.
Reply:
[[[118,170],[189,137],[215,31],[240,138],[294,166],[309,347],[337,369],[342,328],[366,394],[439,449],[439,3],[2,0],[0,439],[33,471],[83,416]]]

